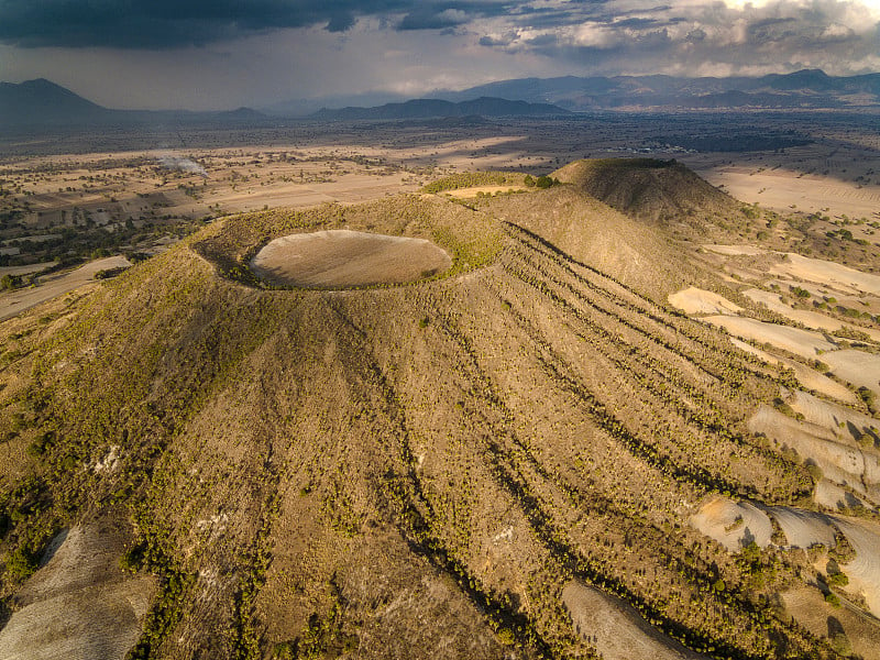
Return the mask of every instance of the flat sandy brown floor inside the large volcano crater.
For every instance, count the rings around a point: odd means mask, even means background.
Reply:
[[[272,284],[354,287],[403,284],[442,273],[449,254],[426,239],[334,229],[280,237],[251,260]]]

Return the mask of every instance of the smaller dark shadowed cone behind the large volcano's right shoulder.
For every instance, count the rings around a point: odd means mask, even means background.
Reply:
[[[743,205],[675,161],[575,161],[552,175],[618,211],[652,221],[739,213]]]

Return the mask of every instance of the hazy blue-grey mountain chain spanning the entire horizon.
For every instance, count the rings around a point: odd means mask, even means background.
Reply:
[[[348,97],[381,102],[382,94]],[[327,100],[327,99],[324,99]],[[818,69],[760,78],[679,78],[615,76],[521,78],[461,91],[438,91],[429,98],[374,107],[321,108],[320,99],[276,103],[264,112],[251,108],[224,112],[184,110],[112,110],[50,80],[0,82],[0,129],[72,125],[272,123],[283,117],[318,121],[420,120],[465,117],[540,117],[571,111],[625,109],[868,109],[880,108],[880,74],[836,77]],[[344,97],[334,97],[339,106]],[[327,105],[327,103],[324,103]],[[316,109],[321,108],[317,112]],[[309,114],[311,112],[311,114]]]

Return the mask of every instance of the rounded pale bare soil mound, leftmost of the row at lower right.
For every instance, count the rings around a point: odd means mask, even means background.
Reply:
[[[730,552],[738,552],[751,541],[766,548],[773,536],[766,513],[749,502],[734,502],[719,495],[706,499],[690,522]]]

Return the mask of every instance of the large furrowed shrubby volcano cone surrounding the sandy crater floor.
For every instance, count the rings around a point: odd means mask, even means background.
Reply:
[[[248,267],[340,229],[452,265],[336,290]],[[4,321],[7,616],[59,530],[103,526],[154,576],[138,642],[105,657],[597,657],[597,614],[563,597],[585,588],[638,620],[618,647],[837,657],[774,606],[795,556],[688,522],[813,487],[748,431],[790,375],[656,301],[689,278],[657,228],[559,185],[231,217]]]

